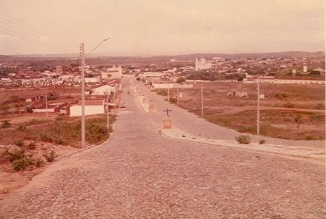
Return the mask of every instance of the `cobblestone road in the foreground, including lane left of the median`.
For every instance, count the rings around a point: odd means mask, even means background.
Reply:
[[[106,144],[55,162],[0,218],[325,218],[325,167],[170,140],[134,92],[123,101]]]

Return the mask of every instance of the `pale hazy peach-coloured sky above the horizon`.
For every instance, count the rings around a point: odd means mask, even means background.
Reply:
[[[324,0],[1,0],[0,54],[324,51]]]

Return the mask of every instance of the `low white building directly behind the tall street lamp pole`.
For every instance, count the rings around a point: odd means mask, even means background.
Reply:
[[[85,115],[104,114],[105,100],[85,101]],[[82,116],[82,104],[79,101],[78,105],[69,107],[69,116]]]

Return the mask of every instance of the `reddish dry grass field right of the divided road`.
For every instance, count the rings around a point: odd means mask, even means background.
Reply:
[[[200,115],[200,84],[180,89],[179,105]],[[226,96],[229,91],[247,92],[249,97]],[[257,84],[204,83],[205,118],[211,123],[243,133],[257,131]],[[161,91],[161,93],[163,93]],[[176,89],[170,89],[176,96]],[[325,140],[325,86],[261,84],[261,135],[292,140]],[[296,114],[302,115],[297,127]]]

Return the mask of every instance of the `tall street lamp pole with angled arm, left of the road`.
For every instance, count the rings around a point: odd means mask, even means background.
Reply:
[[[91,54],[97,47],[100,47],[100,45],[108,40],[108,38],[105,38],[100,44],[98,44],[94,49],[92,49],[87,55]],[[86,146],[86,134],[85,134],[85,57],[87,55],[84,54],[84,42],[80,44],[80,50],[82,55],[82,145],[81,147],[84,148]]]

